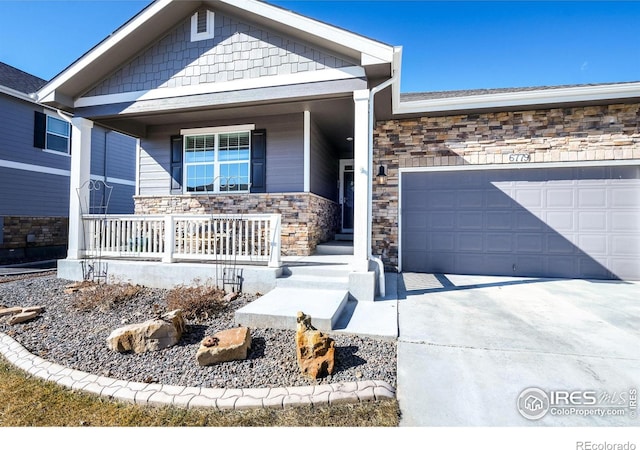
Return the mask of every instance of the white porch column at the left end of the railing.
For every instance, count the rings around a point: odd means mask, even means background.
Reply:
[[[93,122],[82,117],[71,119],[71,176],[69,178],[68,259],[80,259],[84,250],[82,213],[89,205],[91,177],[91,129]]]

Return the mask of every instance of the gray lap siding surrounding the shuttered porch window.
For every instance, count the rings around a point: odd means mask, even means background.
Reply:
[[[256,120],[267,130],[267,192],[302,192],[304,189],[303,115],[269,116]],[[232,125],[232,122],[182,124],[151,129],[140,142],[140,195],[169,195],[169,144],[182,128]]]

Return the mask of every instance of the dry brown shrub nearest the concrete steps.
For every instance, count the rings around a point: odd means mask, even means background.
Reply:
[[[227,307],[225,292],[210,283],[193,286],[180,285],[171,289],[166,296],[167,310],[181,309],[186,319],[206,320]]]

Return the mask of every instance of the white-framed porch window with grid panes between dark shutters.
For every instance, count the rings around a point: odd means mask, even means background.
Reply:
[[[250,149],[249,131],[186,135],[186,192],[248,192]]]

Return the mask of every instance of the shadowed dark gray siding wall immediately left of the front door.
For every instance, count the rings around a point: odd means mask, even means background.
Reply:
[[[338,158],[322,130],[311,122],[311,192],[338,200]]]

